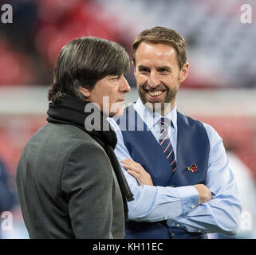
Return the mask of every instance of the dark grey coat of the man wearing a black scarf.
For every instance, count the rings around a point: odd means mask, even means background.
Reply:
[[[79,128],[45,124],[37,131],[19,160],[17,186],[30,238],[124,238],[112,165]]]

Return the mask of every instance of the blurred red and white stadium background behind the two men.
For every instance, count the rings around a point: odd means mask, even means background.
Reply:
[[[4,4],[12,6],[13,23],[0,20],[0,159],[15,201],[8,209],[12,230],[2,230],[0,211],[2,238],[28,237],[15,171],[26,142],[45,124],[47,89],[61,47],[90,35],[116,41],[131,55],[136,34],[152,26],[175,29],[186,40],[190,69],[178,94],[179,111],[211,124],[223,137],[243,205],[235,238],[256,238],[256,1],[1,0],[0,7]],[[251,6],[250,23],[241,21],[244,4]],[[128,104],[137,98],[132,69],[126,78],[132,87]]]

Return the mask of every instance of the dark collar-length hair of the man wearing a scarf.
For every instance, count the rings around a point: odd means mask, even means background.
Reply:
[[[61,96],[85,100],[79,87],[93,89],[108,75],[121,75],[130,68],[128,53],[116,42],[98,37],[81,37],[69,41],[59,53],[53,72],[48,100],[57,104]]]

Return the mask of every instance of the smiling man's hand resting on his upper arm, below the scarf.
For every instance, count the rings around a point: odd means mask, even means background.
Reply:
[[[127,169],[128,174],[136,178],[137,182],[141,185],[153,186],[151,176],[147,171],[139,164],[133,161],[132,159],[124,159],[120,161],[123,163],[123,167]]]

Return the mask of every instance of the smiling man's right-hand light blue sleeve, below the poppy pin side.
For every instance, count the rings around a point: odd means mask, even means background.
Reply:
[[[211,153],[207,171],[207,187],[214,194],[210,202],[195,210],[168,221],[169,226],[185,228],[189,232],[235,234],[238,231],[242,211],[234,174],[228,166],[223,141],[216,131],[207,125],[211,141]]]

